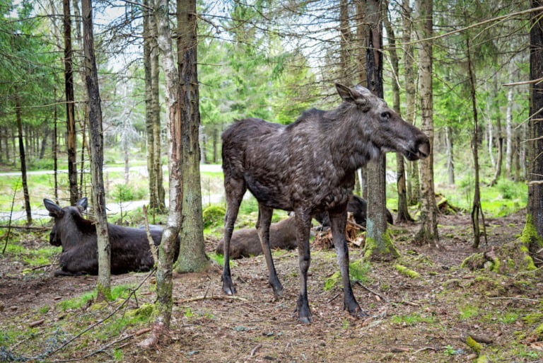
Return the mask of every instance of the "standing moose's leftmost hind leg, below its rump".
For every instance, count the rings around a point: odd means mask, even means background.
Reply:
[[[247,190],[245,181],[226,178],[224,181],[226,191],[226,216],[224,217],[224,267],[223,267],[223,292],[228,295],[235,294],[235,288],[230,272],[230,239],[234,231],[235,219],[238,218],[240,204]]]

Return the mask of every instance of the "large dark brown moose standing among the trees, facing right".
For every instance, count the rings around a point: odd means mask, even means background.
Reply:
[[[295,213],[300,263],[298,319],[312,321],[307,277],[309,236],[313,215],[327,211],[344,286],[344,309],[364,316],[349,281],[349,252],[345,238],[347,203],[354,188],[356,169],[387,151],[409,159],[426,158],[426,134],[402,120],[381,98],[366,88],[336,84],[343,103],[335,110],[305,111],[291,125],[248,118],[223,132],[223,172],[226,192],[223,291],[234,294],[230,274],[230,238],[240,203],[247,189],[258,201],[257,231],[266,256],[269,283],[280,296],[279,282],[269,246],[273,209]]]

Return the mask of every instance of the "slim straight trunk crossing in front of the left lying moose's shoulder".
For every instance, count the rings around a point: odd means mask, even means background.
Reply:
[[[98,69],[94,55],[93,11],[91,0],[81,2],[83,15],[83,49],[86,64],[86,86],[88,91],[88,124],[91,129],[91,178],[93,204],[98,236],[98,296],[97,300],[111,298],[111,256],[105,212],[105,190],[103,178],[104,138],[102,128],[102,106],[98,86]]]

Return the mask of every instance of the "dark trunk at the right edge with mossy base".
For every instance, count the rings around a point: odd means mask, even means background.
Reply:
[[[532,0],[532,8],[543,6],[543,0]],[[528,121],[528,203],[527,229],[535,230],[530,250],[543,245],[543,12],[532,13],[530,28],[530,120]]]

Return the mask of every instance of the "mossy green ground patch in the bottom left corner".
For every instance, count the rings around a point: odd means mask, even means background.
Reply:
[[[50,362],[63,354],[100,350],[100,347],[147,327],[155,314],[155,306],[144,301],[139,292],[132,296],[136,284],[112,287],[112,301],[95,303],[96,291],[73,299],[59,301],[54,306],[40,306],[29,313],[14,316],[0,330],[0,362]],[[29,322],[42,322],[29,325]],[[93,328],[93,325],[96,325]],[[69,350],[59,349],[71,338]],[[113,362],[122,362],[122,350],[111,349]],[[116,358],[115,358],[116,357]],[[97,358],[97,357],[95,357]],[[94,362],[102,362],[100,357]],[[108,360],[108,362],[111,362]]]

